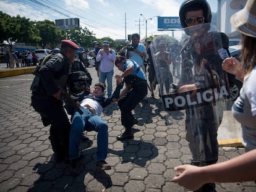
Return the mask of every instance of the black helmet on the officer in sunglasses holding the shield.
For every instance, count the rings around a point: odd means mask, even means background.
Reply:
[[[179,8],[179,19],[181,21],[181,27],[186,28],[187,24],[186,13],[191,10],[203,10],[203,17],[205,17],[205,23],[211,22],[211,7],[206,0],[186,0],[182,2]]]

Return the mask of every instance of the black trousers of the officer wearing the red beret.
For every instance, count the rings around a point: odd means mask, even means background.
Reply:
[[[41,119],[50,127],[50,141],[57,159],[69,157],[70,122],[64,111],[63,102],[51,96],[32,95],[32,106]]]

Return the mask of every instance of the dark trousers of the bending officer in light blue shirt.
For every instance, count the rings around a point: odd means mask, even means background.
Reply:
[[[132,110],[145,98],[148,92],[147,81],[140,81],[118,101],[121,110],[121,123],[126,128],[126,133],[131,133],[134,126],[134,115]]]

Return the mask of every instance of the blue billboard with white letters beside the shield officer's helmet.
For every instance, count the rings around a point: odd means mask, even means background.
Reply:
[[[158,31],[181,28],[179,17],[158,17]]]

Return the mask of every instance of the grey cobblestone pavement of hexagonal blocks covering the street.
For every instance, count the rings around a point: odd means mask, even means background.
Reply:
[[[98,79],[88,69],[93,83]],[[116,73],[116,72],[115,72]],[[68,164],[55,164],[49,143],[49,127],[30,107],[33,75],[0,78],[0,191],[186,191],[171,182],[173,168],[190,162],[185,139],[184,113],[170,113],[171,125],[165,125],[165,112],[158,100],[147,99],[134,110],[139,119],[134,140],[117,141],[124,131],[117,104],[103,111],[109,126],[111,170],[95,171],[96,133],[86,132],[90,141],[81,143],[85,157],[80,174],[69,175]],[[220,148],[219,161],[242,154],[242,148]],[[239,173],[237,173],[239,174]],[[254,182],[224,183],[217,191],[256,191]]]

